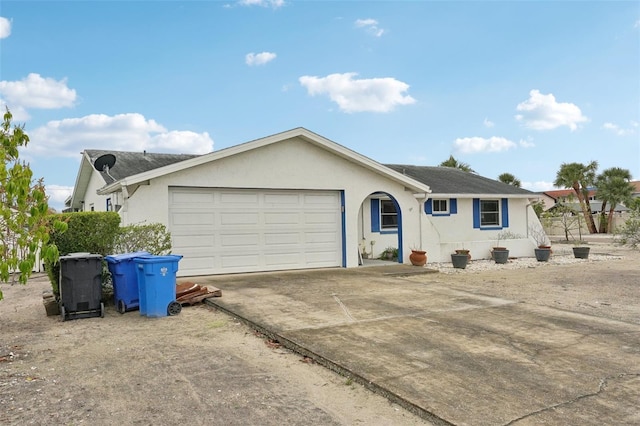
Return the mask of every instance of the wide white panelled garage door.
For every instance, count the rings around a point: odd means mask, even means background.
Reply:
[[[342,265],[338,191],[169,189],[181,276]]]

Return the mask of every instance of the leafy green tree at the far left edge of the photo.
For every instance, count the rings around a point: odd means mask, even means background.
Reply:
[[[12,115],[4,114],[0,129],[0,282],[26,284],[38,253],[56,261],[58,248],[49,244],[52,228],[64,232],[66,224],[51,223],[48,197],[42,179],[20,161],[18,149],[29,142],[24,126],[11,126]],[[0,291],[0,300],[2,300]]]

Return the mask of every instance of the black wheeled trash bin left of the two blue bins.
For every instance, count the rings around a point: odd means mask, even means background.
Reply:
[[[104,317],[102,256],[91,253],[60,256],[59,288],[62,321]]]

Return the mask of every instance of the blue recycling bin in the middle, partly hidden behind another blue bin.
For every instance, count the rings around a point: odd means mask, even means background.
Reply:
[[[134,258],[151,256],[146,251],[114,254],[105,257],[111,281],[113,282],[113,302],[121,314],[137,309],[140,306],[138,295],[138,272]]]

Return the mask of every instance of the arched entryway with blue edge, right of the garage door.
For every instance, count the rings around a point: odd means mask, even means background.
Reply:
[[[403,263],[402,210],[388,192],[369,194],[358,212],[358,263]]]

